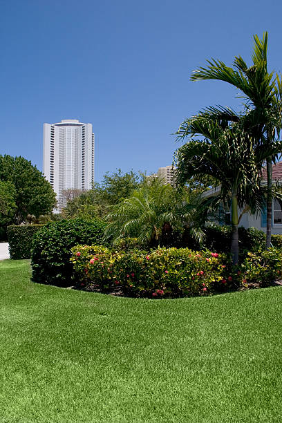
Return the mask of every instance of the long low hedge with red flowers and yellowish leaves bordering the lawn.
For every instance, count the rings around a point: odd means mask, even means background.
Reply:
[[[74,272],[82,286],[107,292],[118,288],[135,297],[182,297],[209,294],[228,280],[223,254],[187,248],[115,251],[100,246],[72,249]]]

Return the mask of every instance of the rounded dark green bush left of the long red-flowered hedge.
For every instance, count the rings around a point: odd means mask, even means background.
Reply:
[[[105,223],[100,220],[60,220],[48,223],[32,242],[32,281],[50,285],[72,284],[71,247],[99,244]]]

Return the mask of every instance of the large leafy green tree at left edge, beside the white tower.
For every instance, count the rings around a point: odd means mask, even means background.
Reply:
[[[28,214],[39,217],[48,214],[56,204],[56,196],[42,173],[23,157],[0,156],[0,180],[15,188],[15,215],[17,225]]]

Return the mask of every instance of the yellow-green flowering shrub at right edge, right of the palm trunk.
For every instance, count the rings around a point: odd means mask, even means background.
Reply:
[[[269,285],[282,275],[282,250],[270,248],[267,251],[247,254],[241,265],[241,281]]]

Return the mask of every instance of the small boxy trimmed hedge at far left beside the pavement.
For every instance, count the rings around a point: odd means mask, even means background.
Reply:
[[[10,258],[13,260],[30,259],[32,237],[44,225],[8,226],[8,243]]]

